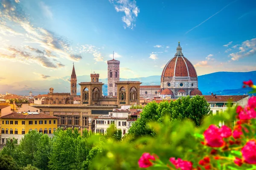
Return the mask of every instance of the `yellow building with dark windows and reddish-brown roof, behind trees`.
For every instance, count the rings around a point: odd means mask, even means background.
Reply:
[[[29,130],[37,130],[52,137],[57,129],[58,117],[46,114],[11,113],[1,117],[1,144],[9,138],[18,139],[18,143]]]

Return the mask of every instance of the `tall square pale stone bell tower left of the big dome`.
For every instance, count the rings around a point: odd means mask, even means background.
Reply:
[[[114,59],[108,60],[108,96],[117,96],[117,85],[119,81],[120,61]]]

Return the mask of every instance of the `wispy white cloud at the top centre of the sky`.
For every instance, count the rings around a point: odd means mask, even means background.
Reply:
[[[109,0],[115,7],[117,12],[124,12],[125,16],[122,21],[125,23],[124,28],[133,29],[136,26],[135,21],[140,13],[139,7],[135,0]]]

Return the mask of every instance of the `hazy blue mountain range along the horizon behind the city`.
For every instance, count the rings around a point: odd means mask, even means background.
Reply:
[[[131,79],[120,78],[120,81],[140,81],[141,85],[160,85],[161,76],[149,76],[139,77]],[[12,94],[28,95],[29,91],[33,92],[33,95],[47,94],[49,88],[54,88],[54,92],[69,93],[70,92],[70,77],[63,77],[52,80],[38,80],[38,81],[22,81],[15,82],[11,85],[0,85],[0,93],[5,94],[6,91]],[[241,88],[242,82],[251,79],[256,82],[256,71],[250,72],[215,72],[211,74],[205,74],[198,76],[198,89],[202,91],[204,95],[222,94],[222,95],[242,95],[250,91],[249,88]],[[77,76],[77,82],[90,81],[89,75]],[[107,95],[108,79],[99,79],[103,82],[102,87],[103,94]],[[31,88],[32,87],[32,88]],[[80,86],[77,85],[78,91]],[[80,93],[79,93],[80,94]]]

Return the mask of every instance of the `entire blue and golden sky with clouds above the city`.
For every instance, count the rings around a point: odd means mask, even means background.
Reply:
[[[0,0],[0,85],[91,71],[160,75],[177,42],[198,72],[256,70],[255,0]],[[22,71],[22,76],[18,73]]]

